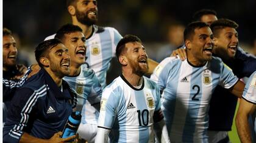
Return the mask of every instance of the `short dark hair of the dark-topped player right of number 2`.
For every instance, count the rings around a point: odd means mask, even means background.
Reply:
[[[211,25],[210,28],[213,32],[213,35],[215,37],[219,36],[219,30],[221,30],[222,28],[226,28],[226,27],[231,27],[231,28],[238,28],[238,24],[235,21],[232,21],[230,19],[218,19],[217,21],[214,21]]]

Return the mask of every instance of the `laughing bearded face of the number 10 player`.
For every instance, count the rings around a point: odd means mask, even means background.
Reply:
[[[148,55],[146,48],[140,42],[128,42],[124,56],[132,73],[143,76],[148,72]]]

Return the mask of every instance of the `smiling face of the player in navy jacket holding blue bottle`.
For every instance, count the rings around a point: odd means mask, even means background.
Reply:
[[[46,64],[43,64],[50,68],[51,73],[57,78],[63,78],[70,73],[68,48],[63,44],[58,44],[51,48],[45,62]],[[52,78],[54,79],[54,77]]]

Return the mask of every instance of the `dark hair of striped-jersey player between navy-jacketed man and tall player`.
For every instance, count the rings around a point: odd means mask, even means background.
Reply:
[[[54,38],[60,39],[62,41],[65,34],[70,34],[74,32],[83,32],[83,30],[77,25],[65,24],[62,27],[60,27]]]

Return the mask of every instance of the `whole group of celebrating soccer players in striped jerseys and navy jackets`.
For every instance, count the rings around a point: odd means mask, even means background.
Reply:
[[[26,73],[9,66],[24,76],[3,80],[4,142],[70,141],[76,136],[62,139],[59,131],[72,111],[82,114],[80,142],[229,142],[233,96],[242,95],[238,133],[241,141],[253,141],[246,119],[255,111],[256,58],[238,47],[234,21],[218,20],[213,10],[195,13],[183,47],[158,64],[137,36],[122,38],[115,28],[95,25],[96,0],[66,3],[73,24],[38,45],[38,64]],[[7,55],[13,63],[16,53]],[[122,74],[106,85],[115,56]],[[244,88],[239,79],[250,75]]]

